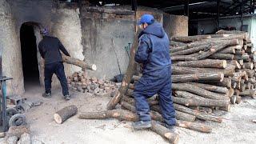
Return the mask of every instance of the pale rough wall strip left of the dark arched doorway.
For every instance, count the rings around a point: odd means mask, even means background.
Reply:
[[[2,52],[3,74],[14,78],[7,82],[7,94],[24,91],[22,76],[22,56],[15,21],[11,15],[10,5],[0,1],[0,48]]]

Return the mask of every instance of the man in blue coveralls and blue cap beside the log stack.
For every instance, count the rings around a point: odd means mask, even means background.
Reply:
[[[158,94],[165,126],[172,129],[176,118],[171,98],[169,38],[162,25],[154,22],[154,17],[150,14],[142,15],[138,24],[142,32],[139,34],[135,61],[143,64],[143,75],[135,84],[134,98],[139,121],[134,122],[133,126],[134,129],[151,126],[150,106],[146,98]]]

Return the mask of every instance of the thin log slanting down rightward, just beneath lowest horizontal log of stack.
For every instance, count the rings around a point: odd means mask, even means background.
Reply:
[[[176,103],[174,103],[174,109],[178,110],[178,111],[182,111],[187,114],[192,114],[192,115],[196,116],[198,119],[202,119],[205,121],[219,122],[219,123],[222,122],[221,117],[216,117],[216,116],[210,115],[210,114],[203,114],[203,113],[200,113],[198,110],[192,110],[186,106],[178,105]]]

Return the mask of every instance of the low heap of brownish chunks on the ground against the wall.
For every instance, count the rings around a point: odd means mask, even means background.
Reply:
[[[120,84],[98,78],[90,78],[86,72],[74,72],[67,77],[67,83],[71,90],[90,94],[114,94]]]

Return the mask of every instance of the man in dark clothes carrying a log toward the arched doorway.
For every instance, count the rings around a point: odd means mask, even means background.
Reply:
[[[66,100],[70,100],[70,94],[67,86],[66,75],[64,71],[62,54],[70,56],[66,51],[65,47],[62,45],[62,42],[58,38],[50,37],[48,30],[42,29],[42,41],[38,44],[39,52],[42,58],[45,60],[45,89],[46,92],[42,94],[43,97],[51,97],[51,78],[53,74],[56,74],[59,82],[62,86],[62,94]]]

